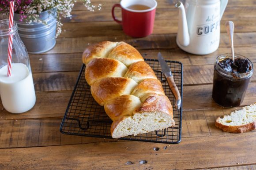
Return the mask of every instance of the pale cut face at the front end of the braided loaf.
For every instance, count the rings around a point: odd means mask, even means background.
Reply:
[[[133,116],[124,116],[114,121],[111,126],[111,134],[113,138],[120,138],[146,134],[173,126],[175,126],[174,120],[165,112],[139,112]]]

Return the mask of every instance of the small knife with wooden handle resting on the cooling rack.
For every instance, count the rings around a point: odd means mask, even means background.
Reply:
[[[164,75],[166,77],[169,87],[172,90],[172,93],[176,98],[175,108],[179,110],[181,108],[181,94],[173,80],[172,71],[171,71],[170,67],[167,65],[166,61],[163,59],[162,54],[160,52],[158,53],[158,61],[161,65],[162,72],[164,73]]]

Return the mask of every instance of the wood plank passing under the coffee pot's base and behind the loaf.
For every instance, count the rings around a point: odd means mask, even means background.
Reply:
[[[219,54],[225,54],[230,49],[218,48],[209,55],[188,54],[181,49],[173,50],[139,50],[144,58],[156,59],[158,52],[161,52],[166,60],[180,61],[184,66],[189,65],[213,65]],[[256,63],[256,46],[236,47],[236,53],[248,57],[253,63]],[[68,54],[41,54],[30,55],[30,65],[34,73],[42,72],[72,72],[79,71],[82,65],[82,53]],[[57,64],[56,64],[57,63]],[[186,67],[184,67],[186,69]],[[204,68],[205,69],[205,68]],[[211,75],[211,74],[210,74]],[[184,74],[187,76],[187,73]]]

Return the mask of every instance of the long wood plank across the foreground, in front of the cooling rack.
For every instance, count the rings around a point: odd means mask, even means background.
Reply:
[[[232,137],[189,137],[166,150],[163,149],[166,144],[134,141],[0,149],[0,168],[165,169],[171,165],[177,169],[193,169],[237,163],[242,166],[256,161],[253,152],[256,143],[251,135],[248,132]],[[154,151],[154,147],[160,150]],[[141,160],[147,160],[147,163],[139,164]],[[127,161],[134,164],[127,165]]]

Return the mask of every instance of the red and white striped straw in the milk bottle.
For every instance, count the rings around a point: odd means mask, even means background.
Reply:
[[[14,2],[10,2],[10,14],[9,14],[9,31],[11,31],[11,28],[13,27],[13,13],[14,13]],[[9,35],[8,40],[8,72],[7,76],[11,76],[11,55],[12,55],[12,40],[13,36]]]

